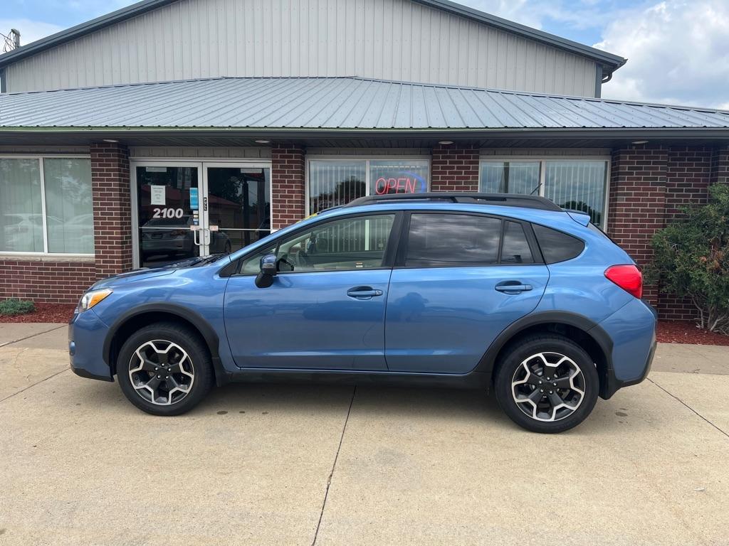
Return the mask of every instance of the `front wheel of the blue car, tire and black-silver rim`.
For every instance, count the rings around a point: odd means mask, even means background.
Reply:
[[[208,348],[197,332],[176,323],[155,323],[125,341],[117,379],[127,399],[152,415],[190,411],[213,384]]]

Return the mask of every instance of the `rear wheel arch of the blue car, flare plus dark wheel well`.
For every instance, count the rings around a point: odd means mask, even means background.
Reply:
[[[600,396],[609,397],[609,384],[612,374],[612,339],[593,320],[572,312],[549,311],[528,314],[509,325],[496,337],[491,347],[479,361],[476,371],[496,377],[499,362],[511,345],[532,333],[559,333],[585,349],[593,358],[600,378]]]

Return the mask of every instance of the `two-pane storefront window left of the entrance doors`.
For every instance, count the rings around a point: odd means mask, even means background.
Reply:
[[[89,159],[0,159],[0,252],[93,254]]]

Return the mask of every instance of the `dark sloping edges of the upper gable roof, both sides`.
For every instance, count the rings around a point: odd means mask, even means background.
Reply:
[[[25,46],[18,47],[16,50],[7,52],[4,55],[0,55],[0,68],[15,63],[20,59],[29,57],[30,55],[35,55],[36,53],[48,50],[51,47],[55,47],[67,41],[71,41],[94,31],[98,31],[101,28],[114,25],[115,23],[120,23],[121,21],[130,19],[131,17],[136,17],[137,15],[142,15],[144,13],[152,11],[153,9],[166,6],[167,4],[172,4],[174,1],[179,0],[142,0],[140,2],[137,2],[136,4],[131,4],[130,6],[122,7],[122,9],[117,9],[117,11],[115,12],[111,12],[106,15],[102,15],[101,17],[96,17],[95,19],[89,20],[85,23],[81,23],[80,25],[67,28],[64,31],[57,32],[55,34],[52,34],[51,36],[36,40]],[[605,68],[607,68],[607,71],[605,71],[607,74],[610,74],[612,73],[612,71],[615,71],[617,70],[617,68],[623,66],[626,61],[625,58],[622,58],[619,55],[613,55],[612,53],[601,51],[594,47],[586,46],[585,44],[580,44],[577,41],[568,40],[565,38],[561,38],[560,36],[555,36],[554,34],[539,31],[536,28],[520,25],[518,23],[502,19],[501,17],[496,17],[495,15],[481,12],[477,9],[472,9],[470,7],[456,4],[455,2],[451,2],[448,0],[413,1],[418,2],[418,4],[432,7],[434,9],[440,9],[444,12],[452,13],[453,15],[467,17],[471,20],[477,21],[478,23],[484,23],[486,25],[491,25],[496,28],[501,28],[504,31],[515,33],[519,36],[524,36],[525,38],[529,38],[532,40],[540,41],[544,44],[558,47],[561,50],[566,50],[572,53],[576,53],[577,55],[582,55],[584,57],[597,60],[602,63]]]

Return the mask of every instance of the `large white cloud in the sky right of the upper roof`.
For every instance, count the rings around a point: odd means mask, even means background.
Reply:
[[[628,58],[603,96],[729,108],[728,29],[726,0],[666,0],[624,12],[596,44]]]

